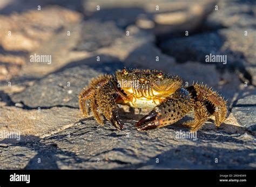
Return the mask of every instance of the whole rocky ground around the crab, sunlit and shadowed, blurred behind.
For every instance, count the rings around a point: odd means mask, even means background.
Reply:
[[[255,15],[253,0],[2,0],[0,131],[21,140],[0,137],[1,169],[255,169]],[[206,63],[210,53],[227,63]],[[147,111],[126,107],[122,132],[81,120],[80,90],[123,67],[204,82],[228,99],[228,118],[196,141],[176,138],[182,121],[138,132]]]

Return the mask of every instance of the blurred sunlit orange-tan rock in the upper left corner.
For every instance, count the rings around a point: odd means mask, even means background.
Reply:
[[[65,25],[78,23],[81,18],[80,13],[58,6],[40,11],[35,6],[26,12],[0,15],[0,81],[18,75],[22,65],[29,62],[29,52],[49,41]]]

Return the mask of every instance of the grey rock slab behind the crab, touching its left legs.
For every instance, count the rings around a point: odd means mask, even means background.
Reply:
[[[102,56],[104,60],[104,56]],[[86,65],[89,62],[89,65]],[[100,66],[99,64],[100,63]],[[73,62],[36,82],[21,93],[11,96],[15,103],[22,102],[28,107],[71,106],[78,107],[78,95],[99,74],[113,73],[114,68],[123,68],[122,62],[97,62],[96,56],[82,62]],[[96,70],[95,70],[96,69]],[[26,96],[30,97],[26,97]],[[35,100],[37,102],[35,102]]]

